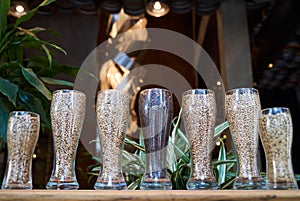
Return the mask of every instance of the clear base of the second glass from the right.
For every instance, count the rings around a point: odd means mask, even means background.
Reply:
[[[237,177],[233,183],[235,190],[262,190],[265,189],[265,183],[261,177],[255,178],[239,178]]]

